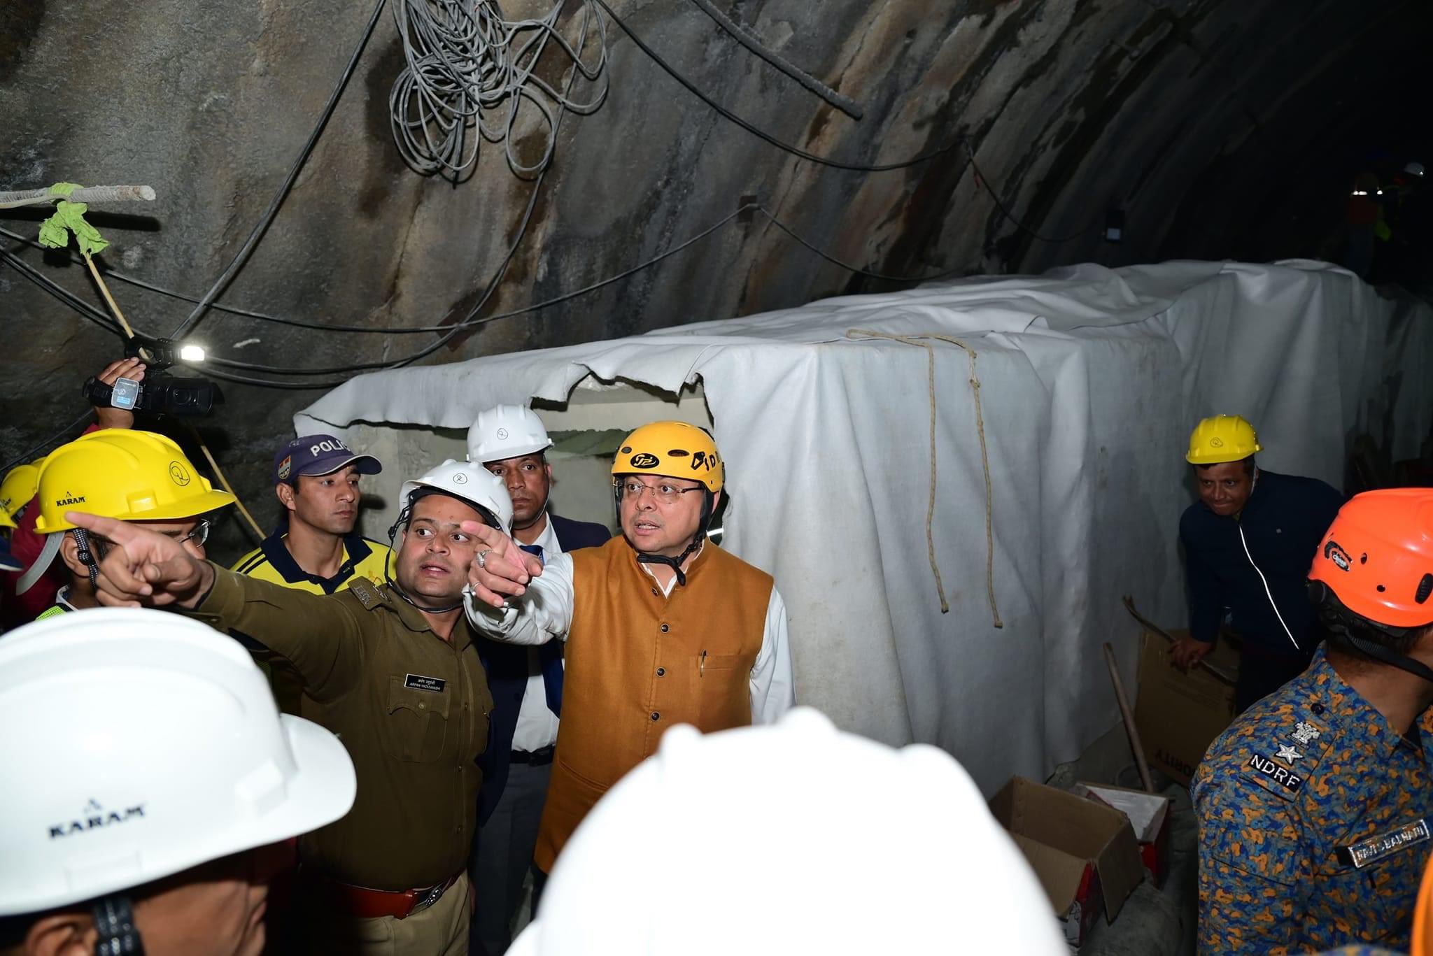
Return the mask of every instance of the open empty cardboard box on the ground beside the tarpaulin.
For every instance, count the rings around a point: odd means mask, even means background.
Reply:
[[[1015,777],[990,798],[990,813],[1030,863],[1073,946],[1098,912],[1113,922],[1145,876],[1129,817],[1112,807]]]

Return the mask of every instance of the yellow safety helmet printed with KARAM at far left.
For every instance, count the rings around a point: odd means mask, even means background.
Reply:
[[[103,429],[62,444],[40,470],[40,516],[34,530],[75,527],[64,512],[122,522],[196,517],[234,503],[216,492],[171,439],[153,431]]]

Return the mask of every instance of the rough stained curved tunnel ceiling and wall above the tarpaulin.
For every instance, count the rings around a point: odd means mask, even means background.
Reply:
[[[1033,272],[1096,261],[1317,255],[1370,149],[1423,149],[1419,0],[716,0],[791,64],[861,105],[834,109],[721,32],[692,0],[610,0],[712,100],[804,150],[764,142],[684,89],[609,21],[605,103],[566,115],[540,183],[484,145],[460,183],[404,166],[388,95],[403,66],[383,11],[332,119],[221,302],[310,322],[453,324],[546,301],[645,262],[758,202],[833,258],[888,275]],[[504,3],[510,19],[547,4]],[[569,0],[563,23],[580,11]],[[354,54],[368,0],[7,0],[0,7],[0,189],[153,185],[96,209],[110,268],[199,297],[274,199]],[[545,53],[539,75],[565,80]],[[575,95],[590,92],[586,80]],[[520,122],[514,149],[540,150]],[[979,173],[970,162],[973,152]],[[983,175],[980,175],[983,173]],[[535,192],[536,189],[536,192]],[[996,201],[999,196],[999,202]],[[532,204],[526,231],[520,228]],[[1002,209],[1003,205],[1003,209]],[[1122,209],[1125,241],[1102,241]],[[37,214],[0,226],[33,236]],[[100,305],[82,267],[6,239]],[[464,330],[423,361],[537,348],[896,288],[854,275],[748,212],[659,264],[547,308]],[[133,324],[168,334],[183,301],[116,284]],[[0,265],[10,460],[79,414],[115,337]],[[219,357],[314,370],[396,361],[437,335],[353,334],[209,311]],[[231,371],[235,371],[231,368]],[[285,383],[342,374],[241,374]],[[225,386],[205,426],[241,493],[320,391]]]

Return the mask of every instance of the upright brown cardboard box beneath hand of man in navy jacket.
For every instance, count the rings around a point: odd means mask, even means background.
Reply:
[[[1188,631],[1171,634],[1181,638]],[[1149,765],[1188,785],[1204,751],[1234,720],[1234,687],[1204,668],[1179,671],[1169,661],[1169,646],[1148,631],[1139,639],[1135,727]],[[1228,641],[1217,641],[1205,661],[1238,677],[1240,656]]]

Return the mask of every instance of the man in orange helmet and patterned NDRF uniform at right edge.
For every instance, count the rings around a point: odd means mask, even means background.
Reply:
[[[1433,849],[1433,489],[1344,505],[1308,596],[1327,644],[1194,775],[1201,953],[1409,945]]]

